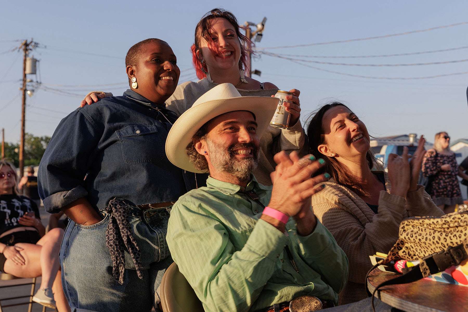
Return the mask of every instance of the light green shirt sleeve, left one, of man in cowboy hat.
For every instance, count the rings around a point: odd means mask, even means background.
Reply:
[[[258,220],[237,249],[216,216],[193,208],[176,203],[171,210],[166,239],[174,261],[206,311],[248,311],[273,275],[287,238]]]

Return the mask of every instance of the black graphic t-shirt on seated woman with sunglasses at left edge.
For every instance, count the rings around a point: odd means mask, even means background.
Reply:
[[[18,220],[27,211],[40,219],[36,203],[26,196],[0,195],[0,234],[21,225]]]

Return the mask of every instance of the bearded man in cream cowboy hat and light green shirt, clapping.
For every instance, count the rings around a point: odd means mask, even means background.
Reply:
[[[315,185],[327,180],[311,177],[323,161],[281,152],[273,186],[251,174],[277,105],[272,97],[241,97],[225,83],[200,97],[169,131],[168,159],[210,173],[207,187],[174,204],[167,234],[172,257],[205,311],[270,311],[301,295],[327,307],[346,283],[346,255],[310,207],[310,196],[321,189]]]

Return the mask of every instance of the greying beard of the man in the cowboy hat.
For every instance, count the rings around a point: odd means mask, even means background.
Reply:
[[[206,145],[211,164],[218,172],[232,174],[240,181],[250,180],[250,174],[258,165],[258,148],[253,142],[233,144],[226,148],[207,139]],[[234,154],[234,150],[239,148],[251,149],[253,157],[239,160]]]

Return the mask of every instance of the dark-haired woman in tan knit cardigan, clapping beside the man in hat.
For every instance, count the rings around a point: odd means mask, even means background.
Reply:
[[[388,174],[379,167],[370,148],[366,125],[343,103],[319,109],[307,127],[311,153],[325,160],[331,175],[324,189],[312,196],[317,218],[333,234],[350,261],[348,283],[340,293],[340,305],[367,297],[365,279],[372,267],[370,255],[388,253],[398,239],[402,219],[413,216],[442,216],[417,185],[424,156],[424,138],[408,161],[390,154]]]

